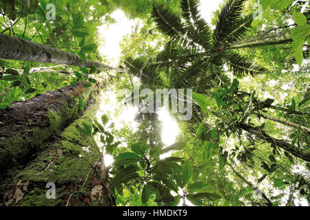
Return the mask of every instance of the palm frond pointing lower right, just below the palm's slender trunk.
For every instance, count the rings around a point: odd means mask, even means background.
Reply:
[[[256,64],[251,58],[242,56],[233,51],[225,51],[221,53],[221,58],[228,67],[232,70],[234,76],[243,77],[247,74],[254,76],[256,74],[262,74],[267,71],[264,67]]]

